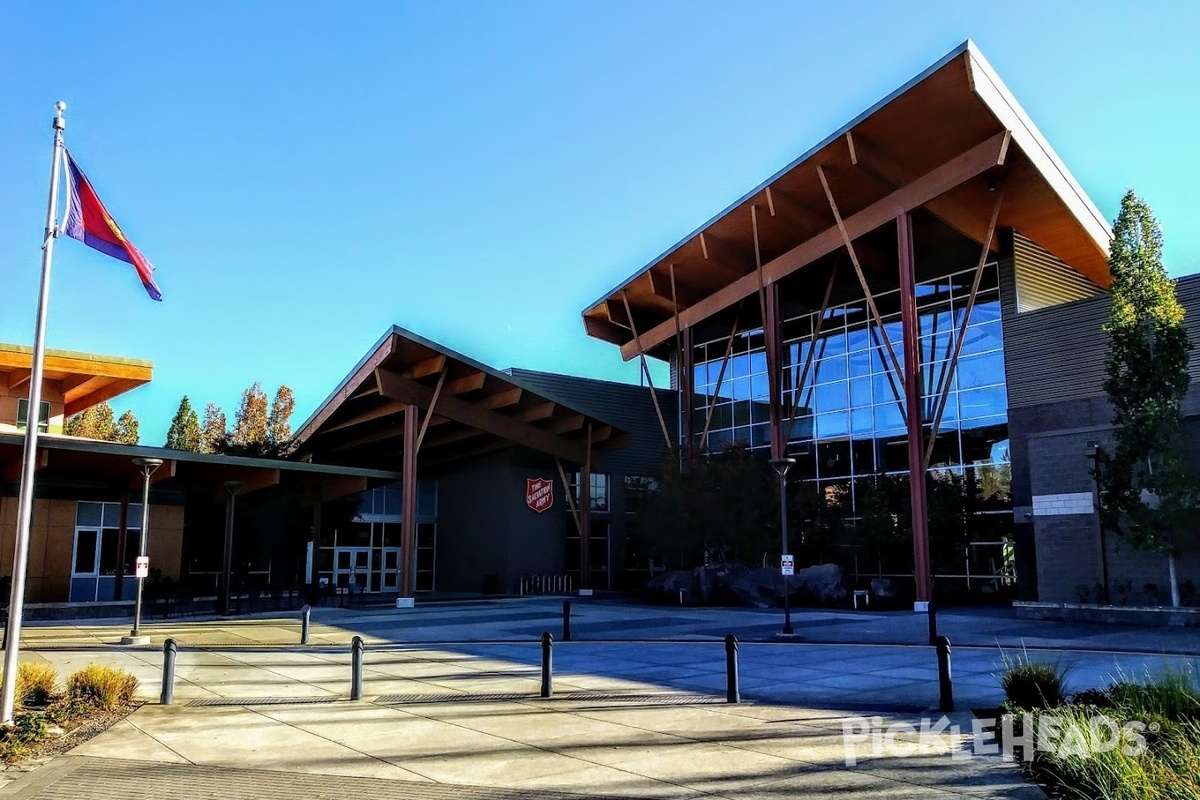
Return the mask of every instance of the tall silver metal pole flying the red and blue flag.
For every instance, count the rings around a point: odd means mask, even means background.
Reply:
[[[12,723],[17,693],[17,657],[20,654],[20,618],[25,606],[25,569],[29,565],[29,529],[34,516],[34,471],[37,464],[37,428],[42,422],[42,361],[46,355],[46,309],[50,299],[50,261],[59,235],[55,215],[59,204],[59,169],[62,164],[62,119],[67,104],[54,104],[54,156],[50,160],[50,199],[46,207],[46,239],[42,242],[42,287],[37,295],[37,330],[34,335],[34,363],[29,375],[29,410],[25,414],[25,462],[20,469],[17,505],[17,546],[12,559],[12,594],[8,599],[8,646],[4,652],[4,687],[0,693],[0,724]]]

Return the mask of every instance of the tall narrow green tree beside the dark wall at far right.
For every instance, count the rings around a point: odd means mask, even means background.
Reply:
[[[1180,604],[1175,560],[1194,530],[1196,482],[1183,463],[1183,415],[1192,342],[1162,258],[1163,234],[1133,191],[1112,227],[1112,276],[1104,391],[1115,447],[1102,449],[1096,479],[1100,524],[1139,549],[1166,557],[1171,604]]]

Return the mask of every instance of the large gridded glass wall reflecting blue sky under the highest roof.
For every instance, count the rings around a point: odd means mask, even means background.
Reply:
[[[970,269],[917,284],[922,419],[928,441],[940,397],[948,391],[928,479],[935,572],[968,584],[973,573],[977,587],[989,583],[997,589],[1004,582],[988,576],[1010,577],[1012,500],[995,264],[984,267],[958,369],[949,374],[973,277]],[[899,289],[875,300],[887,339],[902,363]],[[908,522],[901,521],[908,513],[904,385],[890,368],[884,337],[866,301],[830,307],[821,319],[816,312],[786,318],[781,338],[784,431],[788,455],[797,458],[790,483],[799,485],[793,491],[814,498],[815,506],[800,510],[802,535],[815,522],[804,515],[820,513],[827,522],[836,516],[841,530],[827,542],[827,558],[836,555],[829,554],[830,548],[840,548],[838,558],[845,557],[841,560],[856,573],[911,576],[911,534],[905,528]],[[769,390],[762,331],[736,336],[718,391],[727,347],[727,338],[696,347],[695,431],[697,435],[703,431],[713,405],[709,452],[739,441],[766,453]],[[955,497],[962,498],[961,504]],[[880,505],[887,506],[898,527],[890,548],[878,542],[863,546],[863,530],[878,528],[877,521],[864,522],[864,515]]]

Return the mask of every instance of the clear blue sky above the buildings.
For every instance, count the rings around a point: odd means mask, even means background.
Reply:
[[[150,359],[114,403],[262,380],[299,423],[392,323],[637,380],[580,312],[966,38],[1110,219],[1200,271],[1200,4],[76,2],[0,10],[0,341],[30,343],[53,103],[164,302],[59,241],[48,345]],[[659,380],[665,380],[662,373]]]

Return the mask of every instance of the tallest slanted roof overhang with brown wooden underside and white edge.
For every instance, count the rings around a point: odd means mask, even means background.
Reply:
[[[844,247],[830,196],[851,239],[924,209],[983,245],[997,182],[998,228],[1108,287],[1108,222],[968,41],[598,300],[584,329],[625,360],[667,355],[682,327]]]

